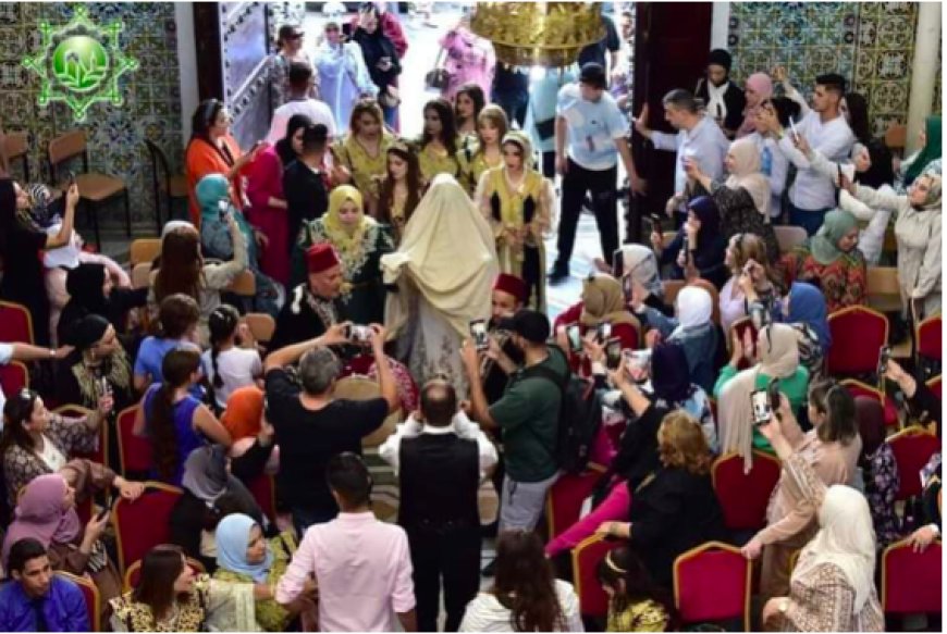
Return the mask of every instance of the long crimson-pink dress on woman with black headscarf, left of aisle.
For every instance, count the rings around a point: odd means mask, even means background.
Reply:
[[[285,200],[283,196],[283,161],[276,146],[270,146],[257,156],[249,172],[247,198],[250,201],[247,219],[269,238],[260,250],[260,269],[283,284],[290,283],[290,222],[286,210],[270,207],[270,198]]]

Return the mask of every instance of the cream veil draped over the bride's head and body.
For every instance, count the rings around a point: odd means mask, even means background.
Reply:
[[[451,326],[468,336],[470,322],[490,316],[493,281],[500,274],[493,233],[470,197],[450,174],[439,174],[410,220],[397,251],[382,256],[389,294],[385,326],[394,337],[419,291]]]

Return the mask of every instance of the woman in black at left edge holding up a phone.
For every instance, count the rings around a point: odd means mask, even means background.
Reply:
[[[49,343],[49,298],[42,291],[42,249],[56,249],[72,238],[78,187],[72,185],[65,194],[65,215],[59,233],[49,235],[35,226],[26,212],[32,208],[29,195],[10,178],[0,178],[0,261],[8,274],[0,279],[0,299],[26,307],[36,324],[34,343]],[[11,274],[15,262],[16,274]]]

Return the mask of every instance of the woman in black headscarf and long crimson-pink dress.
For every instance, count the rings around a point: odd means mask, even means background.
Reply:
[[[283,171],[302,153],[303,130],[311,123],[305,114],[291,116],[286,135],[259,153],[247,175],[247,220],[263,236],[260,270],[284,286],[290,282],[290,245],[295,236],[288,233]]]

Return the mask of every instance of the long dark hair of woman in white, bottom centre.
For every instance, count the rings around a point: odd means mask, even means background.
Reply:
[[[532,531],[508,531],[496,540],[493,594],[511,611],[516,632],[565,629],[552,567]]]

